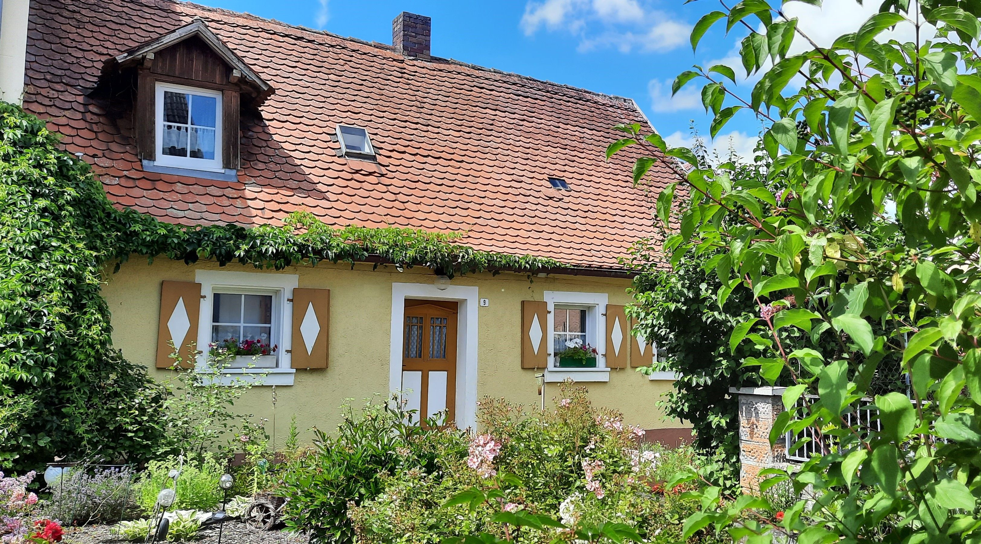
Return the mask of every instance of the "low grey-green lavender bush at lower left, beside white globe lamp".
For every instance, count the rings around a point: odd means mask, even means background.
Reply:
[[[133,479],[129,467],[74,467],[51,486],[44,513],[76,525],[117,522],[134,506]]]

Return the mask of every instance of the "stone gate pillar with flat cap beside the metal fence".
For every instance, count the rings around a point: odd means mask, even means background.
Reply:
[[[759,471],[787,468],[785,435],[770,448],[770,429],[784,411],[781,396],[786,387],[744,387],[729,389],[739,395],[740,485],[744,493],[759,492]]]

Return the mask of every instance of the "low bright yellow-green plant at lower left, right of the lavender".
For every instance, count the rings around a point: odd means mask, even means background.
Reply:
[[[200,461],[181,462],[180,458],[170,457],[148,462],[136,481],[136,502],[146,514],[153,512],[157,493],[171,487],[173,479],[168,475],[174,468],[181,474],[177,481],[177,499],[170,510],[200,510],[212,512],[223,498],[218,487],[218,479],[225,473],[223,465],[212,454],[205,454]]]

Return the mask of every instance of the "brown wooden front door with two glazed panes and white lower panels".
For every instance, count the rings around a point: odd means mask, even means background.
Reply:
[[[415,422],[445,413],[455,420],[456,302],[406,300],[402,326],[402,396]]]

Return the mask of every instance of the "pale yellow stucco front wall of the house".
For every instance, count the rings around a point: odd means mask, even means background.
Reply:
[[[133,362],[155,367],[163,280],[193,282],[196,270],[260,272],[251,266],[203,262],[187,266],[167,258],[133,256],[116,274],[105,275],[103,294],[112,311],[113,342]],[[275,271],[264,271],[276,274]],[[285,274],[299,276],[299,287],[331,290],[330,367],[297,370],[292,386],[277,387],[276,434],[283,440],[290,416],[296,414],[300,429],[317,426],[334,429],[338,409],[346,398],[364,399],[387,395],[391,284],[433,283],[424,268],[398,272],[394,267],[322,263],[316,267],[290,267]],[[521,300],[542,299],[544,291],[606,293],[609,303],[629,302],[629,280],[585,276],[535,278],[519,274],[480,274],[457,277],[452,285],[476,286],[490,305],[479,308],[478,396],[505,397],[510,401],[538,406],[536,371],[520,367]],[[153,369],[158,378],[168,370]],[[687,427],[677,420],[664,420],[656,408],[660,396],[670,389],[668,381],[650,381],[632,368],[614,369],[609,382],[586,383],[596,406],[617,408],[627,421],[647,429]],[[557,384],[546,384],[546,405],[557,394]],[[236,405],[242,413],[274,418],[272,388],[256,387]]]

